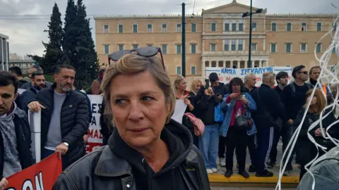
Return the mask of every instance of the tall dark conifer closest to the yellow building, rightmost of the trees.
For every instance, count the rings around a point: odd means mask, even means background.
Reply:
[[[77,87],[88,87],[97,77],[98,60],[97,52],[90,32],[90,19],[86,18],[86,7],[83,0],[76,4],[76,53],[73,66],[76,68]]]

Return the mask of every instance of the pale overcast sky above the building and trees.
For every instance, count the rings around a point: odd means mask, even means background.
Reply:
[[[76,0],[75,0],[76,1]],[[232,0],[83,0],[94,28],[93,15],[179,14],[182,2],[186,13],[201,13],[201,9],[229,4]],[[237,0],[249,5],[250,0]],[[10,53],[42,56],[42,41],[48,42],[47,29],[54,2],[57,2],[64,21],[67,0],[0,0],[0,33],[9,36]],[[338,0],[253,0],[253,6],[267,8],[268,13],[338,13]],[[94,39],[94,30],[92,30]]]

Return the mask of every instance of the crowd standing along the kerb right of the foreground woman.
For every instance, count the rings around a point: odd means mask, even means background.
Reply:
[[[292,70],[292,76],[281,71],[277,75],[265,72],[262,75],[262,84],[256,87],[256,75],[249,73],[244,81],[234,77],[229,84],[219,81],[218,74],[213,72],[208,76],[209,82],[194,80],[192,92],[186,91],[186,79],[177,77],[174,85],[181,90],[184,102],[187,105],[185,112],[194,113],[205,125],[205,131],[198,139],[198,144],[206,165],[208,174],[218,172],[218,165],[226,167],[225,177],[233,174],[233,155],[237,158],[237,171],[244,178],[249,178],[249,173],[254,172],[256,177],[272,177],[272,169],[277,163],[277,146],[280,137],[283,141],[283,151],[292,138],[302,117],[305,107],[311,101],[306,120],[302,125],[296,148],[287,163],[285,176],[290,175],[293,158],[300,165],[300,177],[306,172],[304,166],[316,157],[316,146],[308,139],[309,126],[316,120],[323,108],[333,103],[333,94],[325,84],[317,84],[321,68],[312,67],[309,71],[304,65],[298,65]],[[293,77],[293,82],[288,79]],[[313,99],[309,99],[312,89],[316,88]],[[333,88],[333,90],[336,90]],[[333,91],[335,92],[335,91]],[[177,94],[181,94],[177,91]],[[179,98],[179,96],[177,96]],[[189,101],[186,101],[189,99]],[[192,111],[193,110],[193,111]],[[328,110],[330,115],[323,120],[323,127],[337,120],[335,111]],[[220,118],[222,118],[220,120]],[[183,124],[186,125],[186,120]],[[186,125],[191,127],[191,125]],[[324,147],[333,148],[330,140],[323,138],[320,125],[309,133],[320,141]],[[330,130],[331,136],[338,136],[338,127]],[[194,132],[191,132],[196,136]],[[249,150],[251,165],[248,170],[246,165],[246,150]],[[289,150],[290,151],[290,150]],[[320,151],[321,156],[324,151]],[[294,156],[295,155],[295,156]],[[218,163],[217,163],[218,162]],[[248,172],[247,172],[248,171]]]

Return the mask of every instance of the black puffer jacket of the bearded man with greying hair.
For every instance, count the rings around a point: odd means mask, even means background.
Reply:
[[[37,101],[46,107],[41,111],[41,148],[44,148],[47,141],[49,122],[54,108],[54,88],[56,86],[57,84],[53,84],[52,87],[42,89],[37,93]],[[67,92],[60,114],[62,142],[69,144],[66,158],[69,165],[71,165],[71,163],[85,155],[83,135],[88,131],[89,127],[86,97],[77,91],[71,90]]]

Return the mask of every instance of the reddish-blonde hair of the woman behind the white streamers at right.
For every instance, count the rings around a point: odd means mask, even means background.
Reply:
[[[306,97],[311,96],[313,89],[310,89],[306,93]],[[323,95],[323,91],[321,89],[316,89],[314,92],[314,97],[316,97],[316,104],[309,106],[309,113],[316,113],[316,115],[320,115],[323,111],[323,108],[326,107],[326,97]],[[309,100],[311,101],[311,100]],[[305,103],[304,108],[307,107],[307,103]]]

